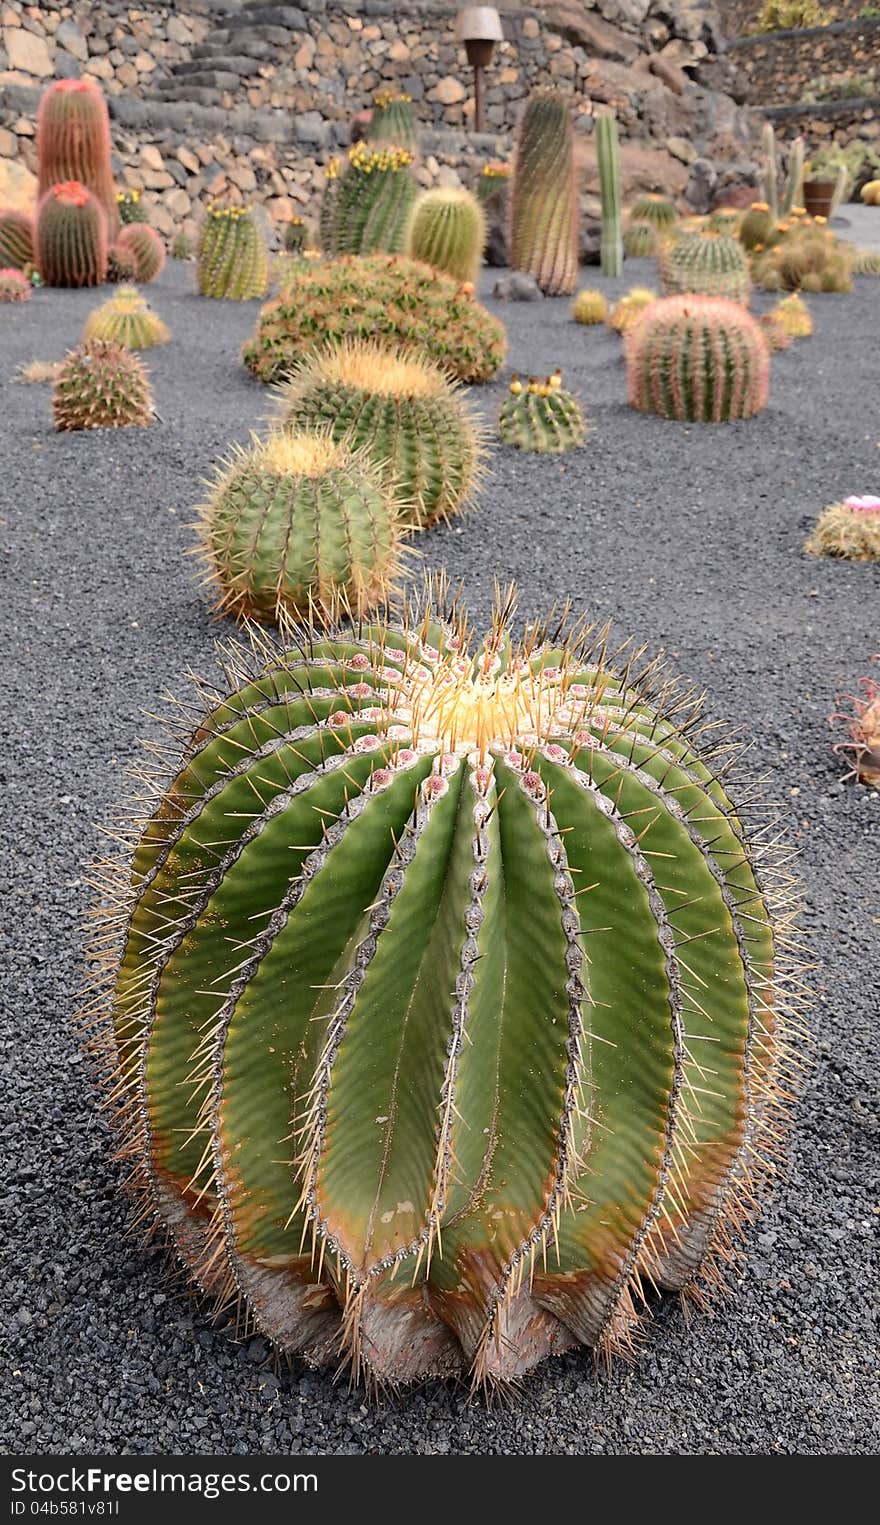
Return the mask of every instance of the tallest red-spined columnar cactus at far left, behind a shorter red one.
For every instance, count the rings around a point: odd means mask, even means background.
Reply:
[[[104,209],[107,233],[119,232],[119,207],[110,163],[110,116],[95,79],[56,79],[37,111],[38,195],[78,180]]]

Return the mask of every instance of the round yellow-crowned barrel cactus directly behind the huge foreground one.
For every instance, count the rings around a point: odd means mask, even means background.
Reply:
[[[372,458],[326,433],[271,435],[221,467],[200,509],[206,581],[236,619],[363,615],[400,572],[393,494]]]

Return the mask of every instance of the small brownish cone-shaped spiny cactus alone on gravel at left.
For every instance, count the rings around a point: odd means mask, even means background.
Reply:
[[[58,430],[145,427],[153,422],[146,371],[122,345],[81,345],[61,366],[52,412]]]

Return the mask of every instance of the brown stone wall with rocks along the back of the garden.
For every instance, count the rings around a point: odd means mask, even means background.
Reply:
[[[712,183],[749,175],[753,122],[689,72],[708,52],[709,0],[502,5],[491,131],[479,136],[456,9],[444,0],[0,0],[0,203],[32,197],[40,92],[78,75],[107,92],[117,180],[142,191],[165,235],[194,232],[217,197],[261,203],[276,223],[316,215],[326,160],[383,84],[413,96],[424,185],[467,183],[487,159],[509,157],[525,96],[548,82],[573,99],[587,210],[593,113],[607,105],[627,140],[630,191],[682,192],[695,160],[711,166]]]

